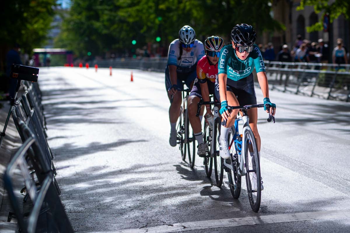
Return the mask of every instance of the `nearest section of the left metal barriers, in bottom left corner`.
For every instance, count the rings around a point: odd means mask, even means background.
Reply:
[[[45,155],[26,123],[19,118],[17,120],[25,141],[7,166],[3,179],[20,231],[72,233],[72,226],[57,194],[52,175],[48,172]],[[14,191],[12,177],[15,176],[16,168],[19,168],[24,178],[26,193],[33,204],[26,213],[22,213],[19,193]]]

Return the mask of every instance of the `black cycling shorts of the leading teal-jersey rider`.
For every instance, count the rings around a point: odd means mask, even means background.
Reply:
[[[238,81],[227,79],[226,90],[232,92],[237,97],[239,105],[257,104],[253,73]],[[220,100],[218,77],[215,80],[215,95]]]

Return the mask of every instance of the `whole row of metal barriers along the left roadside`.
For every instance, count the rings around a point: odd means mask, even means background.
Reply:
[[[23,145],[7,167],[5,188],[22,232],[73,232],[58,196],[61,191],[47,143],[40,88],[35,82],[23,80],[21,85],[25,92],[14,101],[11,115]],[[16,167],[25,178],[25,187],[19,192],[14,192],[11,181]],[[22,202],[27,202],[28,198],[33,202],[29,213],[19,208],[21,193],[25,194]]]

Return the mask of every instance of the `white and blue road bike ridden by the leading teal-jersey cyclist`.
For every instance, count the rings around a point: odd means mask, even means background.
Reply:
[[[260,160],[255,136],[249,125],[247,111],[251,108],[262,108],[264,104],[228,106],[229,110],[240,109],[243,115],[236,119],[231,127],[228,142],[230,156],[223,159],[222,167],[228,174],[229,186],[233,198],[238,199],[241,192],[241,177],[245,176],[248,199],[254,212],[258,212],[261,202]],[[243,130],[239,134],[238,122],[243,121]],[[268,122],[275,123],[275,118],[269,114]],[[224,125],[225,122],[222,122]]]

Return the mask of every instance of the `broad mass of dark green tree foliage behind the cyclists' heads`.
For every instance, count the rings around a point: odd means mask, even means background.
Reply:
[[[183,25],[202,40],[211,35],[228,37],[237,23],[249,23],[258,32],[284,29],[269,14],[269,0],[72,0],[64,17],[59,46],[79,56],[87,51],[141,48],[157,36],[167,46]],[[132,40],[137,44],[132,45]]]

